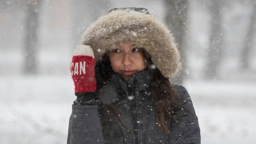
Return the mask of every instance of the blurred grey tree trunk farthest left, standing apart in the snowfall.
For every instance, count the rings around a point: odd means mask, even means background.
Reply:
[[[24,73],[34,75],[37,73],[37,52],[38,52],[38,26],[41,0],[26,0],[25,19],[25,63]]]

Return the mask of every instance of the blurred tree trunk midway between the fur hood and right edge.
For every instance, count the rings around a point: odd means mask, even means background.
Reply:
[[[218,78],[218,68],[222,59],[223,52],[223,21],[222,8],[225,1],[208,0],[206,5],[211,15],[211,35],[210,46],[208,49],[208,59],[206,61],[206,78]]]

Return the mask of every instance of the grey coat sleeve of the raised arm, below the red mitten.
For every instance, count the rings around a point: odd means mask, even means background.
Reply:
[[[67,144],[104,144],[98,106],[72,105]]]

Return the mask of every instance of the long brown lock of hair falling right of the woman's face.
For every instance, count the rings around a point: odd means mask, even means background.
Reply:
[[[181,107],[178,93],[173,85],[171,85],[169,78],[163,76],[159,69],[154,66],[149,54],[142,50],[142,55],[147,59],[149,72],[153,73],[153,78],[150,78],[150,91],[158,129],[170,134],[168,125],[171,124],[172,119],[175,119],[173,115],[174,109]]]

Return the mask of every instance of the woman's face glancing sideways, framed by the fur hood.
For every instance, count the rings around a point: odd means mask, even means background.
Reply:
[[[121,47],[109,52],[109,60],[115,73],[123,75],[124,80],[146,68],[141,50],[132,42],[122,42]]]

